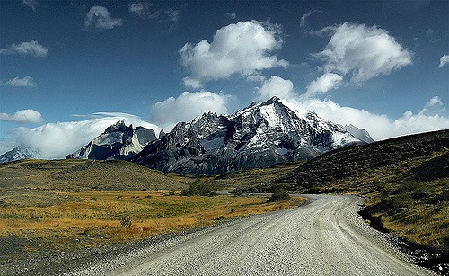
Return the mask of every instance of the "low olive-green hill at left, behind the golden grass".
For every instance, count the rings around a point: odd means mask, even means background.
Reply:
[[[0,164],[0,189],[32,191],[180,190],[191,180],[119,160],[20,160]]]

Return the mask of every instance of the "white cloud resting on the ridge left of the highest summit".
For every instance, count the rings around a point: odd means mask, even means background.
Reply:
[[[208,111],[225,114],[228,102],[226,95],[208,91],[184,92],[177,98],[155,103],[152,120],[165,129],[172,129],[177,122],[190,121]]]

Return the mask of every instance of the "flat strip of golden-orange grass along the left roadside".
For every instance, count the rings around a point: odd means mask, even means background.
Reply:
[[[180,196],[179,191],[57,192],[57,196],[75,200],[48,206],[0,207],[0,236],[39,238],[47,241],[39,246],[57,249],[94,246],[207,227],[218,220],[304,202],[299,198],[266,203],[267,199],[260,197],[187,197]],[[120,224],[124,217],[131,218],[130,227]]]

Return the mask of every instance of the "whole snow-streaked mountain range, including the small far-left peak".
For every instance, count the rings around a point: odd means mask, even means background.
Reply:
[[[162,131],[157,138],[153,129],[133,129],[120,120],[67,158],[123,159],[163,172],[222,174],[307,161],[336,148],[373,141],[364,129],[297,111],[273,97],[231,115],[204,113],[190,122],[179,122],[168,134]],[[0,160],[33,157],[32,151],[18,147]]]

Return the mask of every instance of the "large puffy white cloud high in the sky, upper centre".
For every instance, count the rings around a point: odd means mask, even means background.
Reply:
[[[191,73],[185,85],[196,80],[227,78],[233,74],[251,76],[260,70],[286,67],[286,60],[273,52],[280,49],[282,39],[274,24],[257,21],[237,22],[216,31],[211,43],[201,40],[196,45],[186,43],[180,49],[180,61]]]

